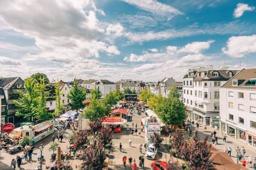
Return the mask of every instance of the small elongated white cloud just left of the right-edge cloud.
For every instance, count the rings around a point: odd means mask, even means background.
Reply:
[[[203,42],[198,42],[195,41],[193,43],[189,43],[187,45],[185,45],[183,48],[181,48],[179,50],[179,52],[183,52],[183,53],[200,53],[203,50],[207,50],[210,48],[211,43],[213,43],[214,41],[203,41]]]

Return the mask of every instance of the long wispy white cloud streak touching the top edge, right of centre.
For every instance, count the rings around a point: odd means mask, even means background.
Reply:
[[[183,15],[183,13],[170,5],[159,3],[156,0],[123,0],[125,3],[132,4],[145,11],[150,11],[159,16],[167,17],[170,20],[175,15]]]

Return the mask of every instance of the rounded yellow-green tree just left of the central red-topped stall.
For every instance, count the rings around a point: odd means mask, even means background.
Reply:
[[[110,110],[111,106],[109,104],[99,101],[98,99],[92,99],[89,106],[84,110],[84,117],[88,118],[90,121],[96,122],[108,115]]]

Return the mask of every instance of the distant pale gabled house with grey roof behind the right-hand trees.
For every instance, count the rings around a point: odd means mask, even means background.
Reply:
[[[176,81],[173,78],[164,78],[158,81],[156,85],[157,94],[161,94],[163,97],[168,97],[169,92],[177,87]]]

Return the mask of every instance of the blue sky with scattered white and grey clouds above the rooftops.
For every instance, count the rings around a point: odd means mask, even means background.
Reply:
[[[0,76],[180,81],[256,67],[256,1],[0,0]]]

